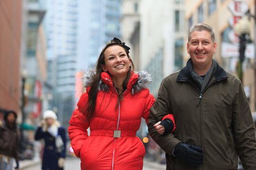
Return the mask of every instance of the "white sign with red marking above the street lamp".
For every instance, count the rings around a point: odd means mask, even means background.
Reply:
[[[233,0],[229,3],[229,10],[234,16],[243,16],[248,11],[249,7],[243,0]]]

